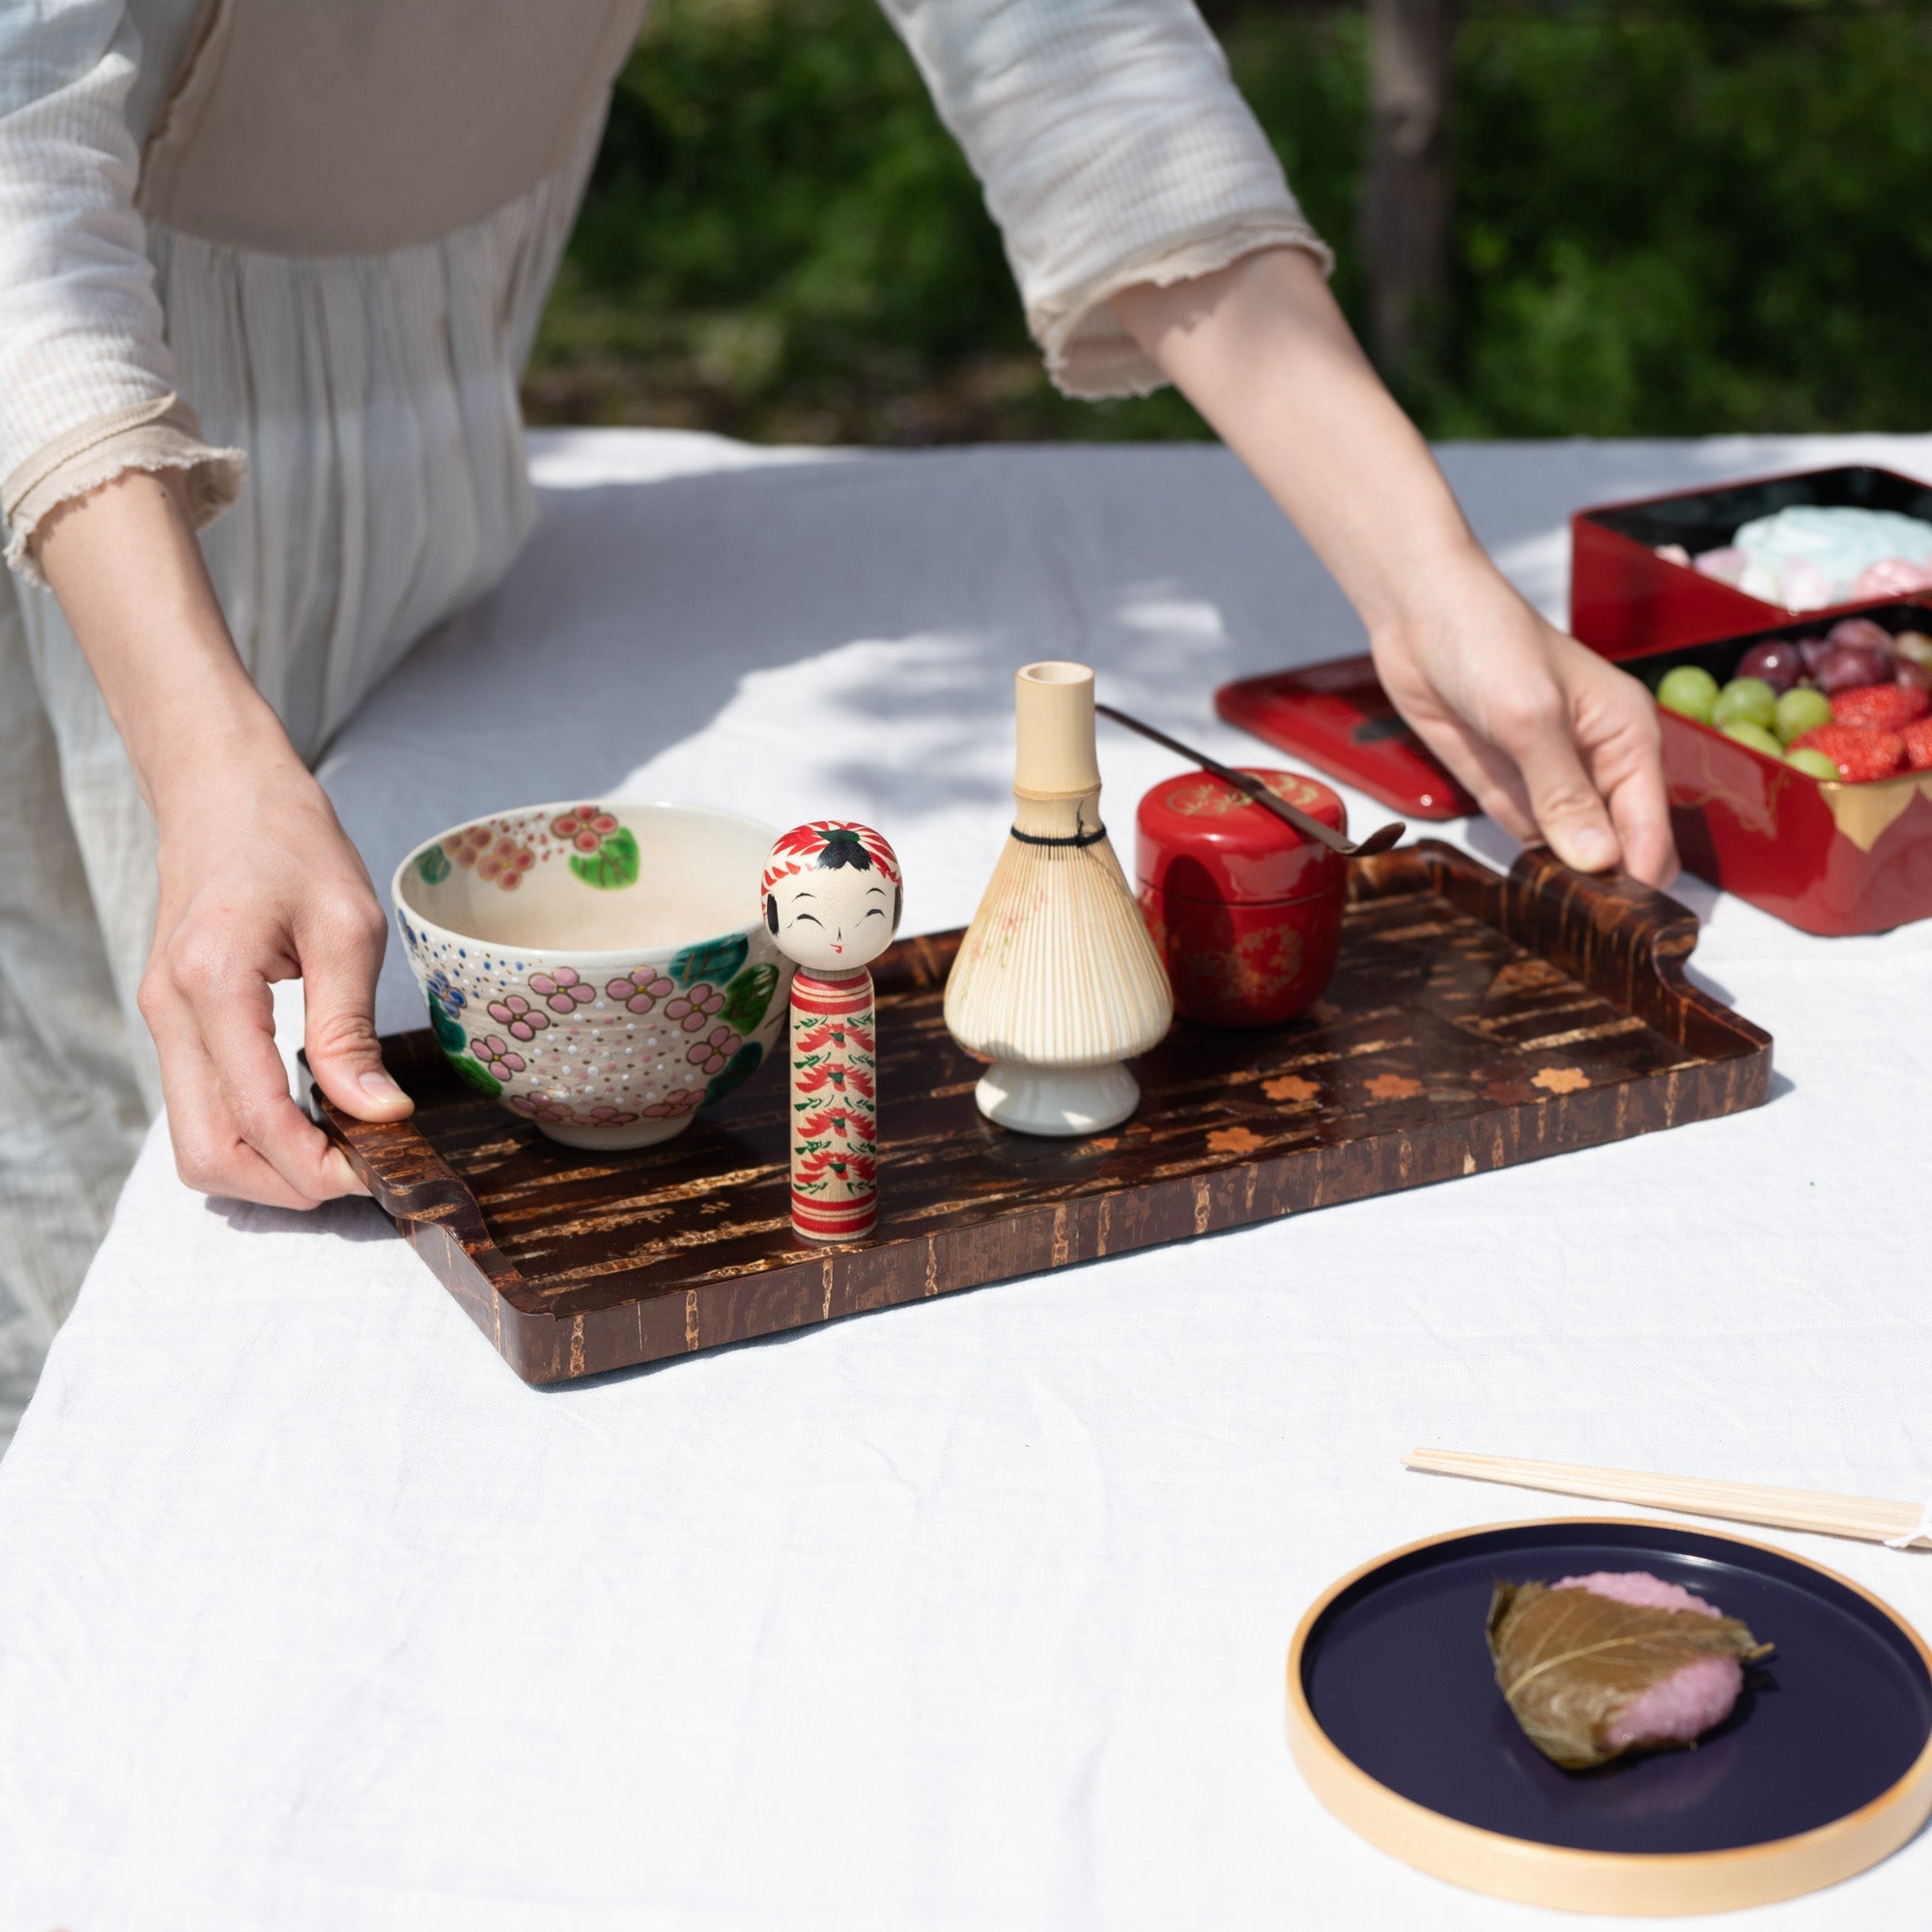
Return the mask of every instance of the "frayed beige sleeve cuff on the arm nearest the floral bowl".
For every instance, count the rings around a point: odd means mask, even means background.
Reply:
[[[203,442],[195,412],[180,396],[93,415],[43,444],[0,483],[8,564],[29,583],[44,582],[33,539],[46,516],[129,469],[180,469],[189,516],[201,529],[242,495],[247,456]]]

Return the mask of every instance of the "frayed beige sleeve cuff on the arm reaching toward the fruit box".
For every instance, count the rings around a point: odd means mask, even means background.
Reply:
[[[1047,375],[1066,396],[1148,396],[1167,383],[1159,365],[1107,305],[1122,288],[1151,282],[1169,288],[1233,267],[1265,247],[1298,247],[1335,272],[1333,249],[1300,218],[1279,207],[1229,214],[1192,234],[1167,236],[1113,263],[1065,294],[1028,303],[1026,321],[1045,352]]]

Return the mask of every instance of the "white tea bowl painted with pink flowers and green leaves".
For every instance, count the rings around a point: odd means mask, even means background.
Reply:
[[[454,825],[390,896],[437,1043],[553,1140],[647,1148],[779,1043],[759,916],[777,829],[701,806],[524,806]]]

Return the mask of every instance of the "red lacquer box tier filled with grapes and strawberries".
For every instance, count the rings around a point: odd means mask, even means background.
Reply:
[[[1837,616],[1747,630],[1714,643],[1627,657],[1656,692],[1677,665],[1719,684],[1754,643],[1822,636]],[[1893,636],[1932,632],[1932,605],[1859,605]],[[1812,779],[1696,719],[1660,711],[1671,829],[1685,867],[1806,933],[1882,933],[1932,918],[1932,771],[1864,784]]]

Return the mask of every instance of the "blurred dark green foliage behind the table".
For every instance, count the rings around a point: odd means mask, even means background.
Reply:
[[[1208,8],[1356,321],[1366,21]],[[1432,435],[1924,429],[1932,0],[1466,0]],[[784,440],[1198,437],[1074,404],[873,0],[659,0],[526,384],[535,421]]]

